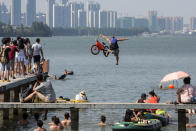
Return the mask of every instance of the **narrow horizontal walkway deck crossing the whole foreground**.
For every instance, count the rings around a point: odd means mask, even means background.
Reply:
[[[196,104],[140,104],[140,103],[20,103],[1,102],[0,109],[7,108],[48,108],[48,109],[196,109]]]

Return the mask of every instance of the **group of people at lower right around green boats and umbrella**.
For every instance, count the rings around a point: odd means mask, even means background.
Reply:
[[[168,102],[168,104],[195,104],[196,103],[196,87],[191,84],[191,78],[186,77],[183,80],[184,85],[176,92],[177,101]],[[153,91],[149,92],[149,96],[145,93],[141,94],[141,98],[136,103],[159,103],[160,97]],[[188,114],[195,114],[195,109],[186,109]],[[127,109],[124,116],[125,122],[146,121],[144,113],[154,113],[156,115],[165,115],[169,119],[172,116],[163,109]],[[196,127],[195,124],[189,124],[189,117],[186,117],[186,127]]]

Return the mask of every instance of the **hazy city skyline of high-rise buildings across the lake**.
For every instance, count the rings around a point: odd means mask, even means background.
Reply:
[[[189,24],[186,24],[182,16],[161,16],[157,10],[148,10],[143,17],[119,16],[115,10],[102,9],[97,1],[46,0],[46,12],[36,13],[37,1],[25,1],[23,4],[26,10],[23,13],[22,0],[11,0],[10,13],[4,4],[0,4],[0,21],[14,26],[31,26],[38,21],[46,23],[50,28],[146,28],[160,33],[196,30],[196,17],[190,17]]]

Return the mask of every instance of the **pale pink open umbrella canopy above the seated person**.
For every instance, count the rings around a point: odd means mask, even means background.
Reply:
[[[183,72],[183,71],[173,72],[163,77],[163,79],[161,80],[161,83],[176,81],[176,80],[180,80],[180,79],[183,79],[189,76],[190,75],[188,73]]]

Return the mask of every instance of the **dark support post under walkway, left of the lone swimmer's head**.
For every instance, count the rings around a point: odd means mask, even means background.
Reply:
[[[79,130],[79,109],[70,108],[70,112],[71,112],[71,130],[78,131]]]

